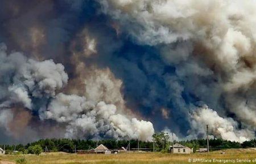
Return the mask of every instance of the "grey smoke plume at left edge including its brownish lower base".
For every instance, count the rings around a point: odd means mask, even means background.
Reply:
[[[62,64],[38,62],[19,52],[7,54],[7,46],[0,44],[0,126],[14,139],[38,139],[39,130],[33,130],[36,123],[31,121],[30,110],[45,107],[67,82]]]

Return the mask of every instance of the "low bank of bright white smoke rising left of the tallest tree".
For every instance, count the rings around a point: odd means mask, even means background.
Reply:
[[[93,103],[85,97],[59,93],[41,110],[42,119],[68,123],[65,137],[115,137],[121,139],[151,140],[152,123],[118,114],[117,107],[101,101]]]

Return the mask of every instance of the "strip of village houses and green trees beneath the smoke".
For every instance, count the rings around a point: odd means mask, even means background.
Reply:
[[[153,141],[138,140],[71,140],[42,139],[26,145],[0,145],[0,154],[40,154],[42,152],[67,152],[76,154],[119,154],[131,152],[162,152],[173,154],[207,153],[230,148],[255,148],[256,140],[238,143],[222,139],[210,139],[209,149],[206,139],[170,141],[155,137]]]

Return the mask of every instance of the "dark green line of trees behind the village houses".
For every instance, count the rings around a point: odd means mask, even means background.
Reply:
[[[97,145],[103,144],[109,149],[119,149],[122,146],[127,148],[130,143],[130,150],[138,150],[138,144],[140,150],[147,151],[161,151],[168,152],[172,142],[168,136],[163,133],[158,133],[153,136],[153,141],[138,141],[138,140],[72,140],[72,139],[41,139],[33,143],[28,143],[26,145],[0,145],[1,148],[5,148],[6,153],[32,153],[40,154],[47,150],[47,152],[68,152],[74,153],[75,150],[89,150],[96,148]],[[177,141],[174,141],[177,143]],[[206,148],[207,140],[197,139],[197,140],[187,140],[179,141],[181,145],[188,146],[197,150],[199,148]],[[227,141],[222,139],[210,139],[209,149],[229,149],[229,148],[250,148],[256,147],[256,140],[245,141],[243,143],[238,143],[235,141]]]

